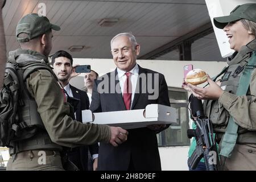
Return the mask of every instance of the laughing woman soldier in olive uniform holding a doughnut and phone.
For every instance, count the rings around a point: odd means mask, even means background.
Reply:
[[[214,18],[236,52],[228,60],[221,85],[183,87],[204,102],[220,143],[224,170],[256,170],[256,3],[237,6],[229,16]],[[247,84],[247,85],[246,85]]]

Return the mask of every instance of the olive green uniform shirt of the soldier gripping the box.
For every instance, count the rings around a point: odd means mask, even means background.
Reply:
[[[16,51],[20,51],[20,49]],[[38,52],[31,50],[22,50],[22,52],[34,55],[49,64],[47,57]],[[52,142],[65,147],[109,142],[109,126],[85,124],[74,121],[68,116],[69,105],[64,102],[60,85],[51,72],[45,69],[35,71],[27,78],[26,84],[28,92],[35,98],[38,113]]]

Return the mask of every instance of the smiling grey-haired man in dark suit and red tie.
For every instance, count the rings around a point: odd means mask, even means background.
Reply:
[[[170,106],[164,76],[136,63],[140,46],[130,33],[116,35],[111,52],[117,69],[94,82],[92,112],[145,109],[148,104]],[[114,83],[114,84],[113,84]],[[118,147],[100,143],[98,170],[161,170],[156,133],[165,125],[131,129]]]

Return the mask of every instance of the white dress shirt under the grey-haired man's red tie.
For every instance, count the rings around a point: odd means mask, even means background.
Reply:
[[[117,68],[117,73],[118,73],[118,79],[119,79],[121,92],[123,95],[123,85],[125,84],[125,81],[126,81],[126,75],[125,75],[126,71],[122,71],[121,69]],[[132,106],[134,93],[135,93],[135,89],[136,89],[136,84],[137,84],[137,79],[138,79],[138,75],[139,75],[138,64],[136,64],[135,67],[133,69],[131,69],[131,71],[129,71],[129,73],[131,73],[130,81],[131,81],[131,86],[133,88],[132,94],[131,94],[131,106]]]

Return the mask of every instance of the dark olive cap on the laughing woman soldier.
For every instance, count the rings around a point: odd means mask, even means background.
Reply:
[[[213,18],[214,25],[223,29],[229,22],[240,19],[247,19],[256,23],[256,3],[246,3],[235,7],[229,16],[220,16]]]

